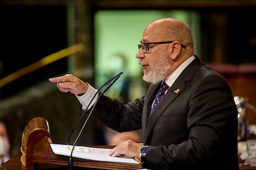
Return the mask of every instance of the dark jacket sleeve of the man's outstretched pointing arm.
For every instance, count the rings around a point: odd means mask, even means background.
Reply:
[[[141,129],[143,97],[134,102],[122,103],[102,95],[96,103],[93,118],[118,132]]]

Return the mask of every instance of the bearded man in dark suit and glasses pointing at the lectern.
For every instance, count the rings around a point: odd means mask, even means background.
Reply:
[[[110,155],[138,158],[148,169],[239,169],[233,94],[226,80],[194,55],[186,23],[154,20],[140,41],[136,57],[143,80],[151,83],[147,94],[129,103],[102,95],[93,117],[119,132],[142,128],[143,146],[126,140]],[[83,108],[96,92],[72,75],[49,81],[75,94]],[[164,87],[167,92],[156,97]],[[155,97],[162,98],[157,105]]]

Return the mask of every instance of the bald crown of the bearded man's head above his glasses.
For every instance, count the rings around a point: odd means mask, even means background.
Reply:
[[[189,26],[175,18],[160,18],[153,20],[144,30],[154,41],[179,41],[187,47],[194,46],[194,40]],[[149,37],[147,37],[149,38]]]

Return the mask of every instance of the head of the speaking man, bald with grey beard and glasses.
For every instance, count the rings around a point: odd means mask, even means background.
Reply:
[[[143,80],[153,84],[168,78],[194,55],[189,26],[174,18],[160,18],[150,22],[140,41],[142,45],[136,57],[145,66]]]

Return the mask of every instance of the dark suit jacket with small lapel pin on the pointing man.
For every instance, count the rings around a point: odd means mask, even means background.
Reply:
[[[150,115],[159,84],[123,104],[102,95],[94,118],[143,131],[148,169],[239,169],[237,109],[226,80],[195,56]]]

